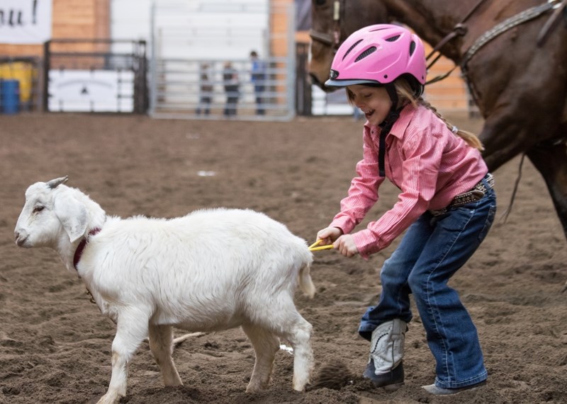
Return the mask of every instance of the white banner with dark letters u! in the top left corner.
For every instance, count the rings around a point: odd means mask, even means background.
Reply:
[[[51,39],[52,0],[0,0],[0,43],[43,44]]]

